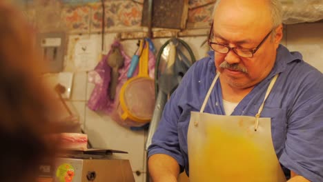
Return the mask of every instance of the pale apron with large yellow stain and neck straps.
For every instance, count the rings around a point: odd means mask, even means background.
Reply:
[[[277,79],[268,86],[264,101]],[[190,182],[286,181],[271,139],[271,119],[204,113],[216,75],[199,112],[191,112],[188,126]]]

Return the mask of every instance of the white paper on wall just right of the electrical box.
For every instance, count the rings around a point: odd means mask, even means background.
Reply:
[[[93,70],[98,56],[97,39],[80,39],[75,43],[74,63],[77,71]]]

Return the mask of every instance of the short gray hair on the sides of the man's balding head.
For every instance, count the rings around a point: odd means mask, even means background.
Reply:
[[[215,10],[217,9],[217,6],[219,5],[220,1],[221,0],[217,0],[215,2],[212,18],[215,15]],[[282,23],[282,3],[280,3],[280,0],[266,0],[266,1],[268,1],[268,4],[270,6],[271,21],[273,22],[273,28],[277,28]]]

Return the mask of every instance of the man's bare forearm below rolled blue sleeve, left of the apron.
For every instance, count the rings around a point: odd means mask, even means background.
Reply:
[[[153,154],[148,159],[148,170],[153,182],[176,182],[179,165],[171,156]]]

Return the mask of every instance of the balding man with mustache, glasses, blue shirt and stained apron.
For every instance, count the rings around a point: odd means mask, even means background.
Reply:
[[[278,0],[217,1],[208,44],[165,106],[153,181],[323,181],[323,75],[289,52]]]

